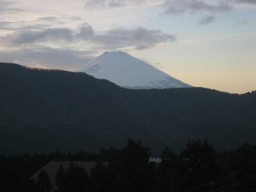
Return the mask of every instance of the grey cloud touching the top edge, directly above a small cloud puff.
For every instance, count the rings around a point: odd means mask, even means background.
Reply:
[[[164,13],[179,15],[183,13],[220,13],[232,10],[230,1],[206,0],[167,0],[164,3]]]

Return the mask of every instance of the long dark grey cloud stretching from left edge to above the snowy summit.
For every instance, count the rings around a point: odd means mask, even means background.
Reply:
[[[3,36],[1,40],[11,45],[40,44],[44,42],[88,42],[104,49],[148,49],[164,42],[174,42],[176,37],[160,30],[146,28],[111,29],[97,32],[89,24],[82,24],[76,30],[69,28],[49,28],[40,30],[15,31],[12,35]]]

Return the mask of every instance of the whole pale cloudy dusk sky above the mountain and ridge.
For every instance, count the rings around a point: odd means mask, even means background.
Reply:
[[[125,51],[193,86],[256,90],[256,0],[0,0],[0,61],[74,71]]]

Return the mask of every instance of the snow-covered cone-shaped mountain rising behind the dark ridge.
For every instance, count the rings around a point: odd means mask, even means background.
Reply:
[[[78,70],[131,89],[191,87],[126,52],[104,52]]]

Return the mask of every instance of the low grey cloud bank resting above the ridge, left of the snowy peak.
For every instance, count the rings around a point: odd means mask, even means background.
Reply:
[[[92,51],[31,47],[0,51],[0,58],[1,61],[19,63],[29,67],[76,70],[90,61],[92,54]]]

